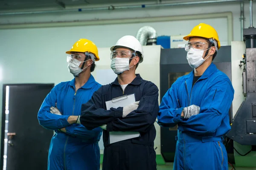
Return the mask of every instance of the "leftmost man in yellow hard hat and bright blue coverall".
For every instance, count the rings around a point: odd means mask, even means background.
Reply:
[[[49,146],[48,170],[99,170],[102,128],[87,130],[76,124],[81,105],[101,87],[91,75],[99,60],[98,48],[92,41],[80,39],[66,53],[74,79],[56,85],[38,112],[40,125],[55,131]]]

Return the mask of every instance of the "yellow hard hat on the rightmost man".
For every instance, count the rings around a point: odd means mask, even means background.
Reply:
[[[195,26],[192,29],[190,34],[183,37],[183,39],[189,40],[190,37],[203,37],[203,38],[207,38],[207,39],[212,38],[217,41],[218,45],[216,45],[216,46],[218,47],[218,49],[221,48],[221,42],[218,39],[217,31],[212,26],[210,26],[208,24],[200,23],[198,26]]]

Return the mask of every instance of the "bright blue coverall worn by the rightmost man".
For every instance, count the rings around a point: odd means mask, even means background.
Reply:
[[[230,130],[229,109],[234,89],[212,63],[192,87],[194,71],[180,77],[163,96],[158,124],[178,125],[174,170],[228,170],[222,136]],[[184,119],[184,107],[197,105],[198,115]]]

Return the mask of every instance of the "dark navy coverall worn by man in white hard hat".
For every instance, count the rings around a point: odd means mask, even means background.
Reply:
[[[107,124],[107,130],[103,130],[102,170],[157,169],[154,122],[159,111],[158,88],[139,74],[136,76],[124,91],[116,78],[111,84],[99,88],[89,102],[82,105],[80,122],[88,130]],[[106,101],[129,94],[135,94],[135,101],[140,104],[126,117],[122,117],[122,107],[106,109]],[[140,132],[140,137],[110,144],[109,132],[112,131]]]

